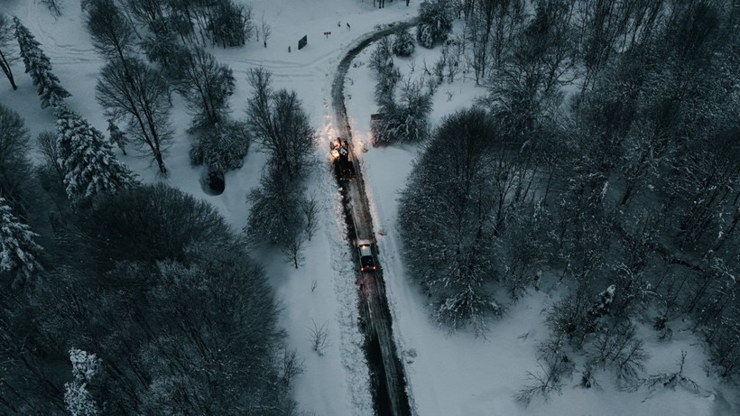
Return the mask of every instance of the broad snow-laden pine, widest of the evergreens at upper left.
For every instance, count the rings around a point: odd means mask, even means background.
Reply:
[[[113,149],[95,127],[66,106],[57,116],[57,147],[64,169],[67,196],[74,202],[134,185],[134,173],[118,162]]]

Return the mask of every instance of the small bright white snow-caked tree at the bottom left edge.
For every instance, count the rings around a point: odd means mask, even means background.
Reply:
[[[100,369],[100,359],[95,354],[77,348],[69,349],[72,375],[75,379],[64,384],[64,403],[72,416],[97,416],[100,409],[88,390],[88,384]]]

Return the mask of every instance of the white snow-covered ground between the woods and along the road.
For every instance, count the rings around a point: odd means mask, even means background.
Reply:
[[[236,93],[231,97],[234,116],[244,116],[245,101],[251,91],[245,80],[247,69],[263,66],[273,73],[273,87],[295,89],[317,127],[319,146],[316,169],[308,179],[309,192],[319,199],[321,224],[306,248],[306,262],[295,270],[280,255],[259,253],[259,260],[282,300],[282,325],[288,343],[297,349],[305,372],[294,387],[294,397],[301,410],[317,415],[372,414],[368,393],[368,374],[360,346],[362,337],[356,328],[355,265],[350,247],[343,240],[344,226],[338,215],[338,192],[328,174],[325,156],[328,141],[335,137],[333,110],[330,108],[330,86],[338,60],[366,32],[378,24],[407,20],[416,14],[418,1],[410,7],[396,0],[384,9],[374,9],[372,0],[254,0],[254,21],[271,24],[272,34],[264,48],[262,41],[248,42],[245,47],[212,52],[227,63],[236,76]],[[54,19],[42,5],[31,0],[3,0],[0,12],[16,14],[42,42],[61,84],[72,93],[68,105],[92,125],[105,131],[102,108],[95,101],[95,83],[103,60],[93,51],[79,13],[79,0],[64,0],[64,14]],[[338,23],[340,23],[338,25]],[[351,25],[351,30],[347,24]],[[325,36],[324,32],[331,32]],[[297,42],[308,35],[308,46],[298,51]],[[291,46],[291,52],[288,47]],[[356,62],[367,60],[366,50]],[[417,70],[422,56],[431,64],[439,51],[417,48]],[[404,72],[408,60],[397,60]],[[42,109],[31,79],[23,74],[23,63],[14,64],[18,90],[13,91],[0,80],[0,103],[11,106],[26,120],[35,136],[52,130],[54,116]],[[366,65],[351,68],[347,79],[347,107],[355,140],[369,143],[369,115],[375,112],[372,88],[375,79]],[[482,93],[471,80],[457,81],[439,88],[432,122],[456,108],[469,106],[471,98]],[[264,154],[253,147],[239,171],[227,173],[227,190],[219,196],[208,196],[200,179],[203,168],[190,166],[189,135],[185,128],[190,116],[179,97],[173,99],[171,120],[175,141],[165,162],[171,172],[168,179],[157,177],[156,169],[146,158],[118,156],[145,181],[166,183],[207,199],[227,218],[235,230],[246,221],[245,196],[259,180]],[[356,147],[358,148],[358,147]],[[616,393],[606,379],[603,391],[582,390],[567,385],[562,396],[545,404],[535,399],[524,408],[513,401],[513,393],[525,383],[526,372],[536,369],[534,358],[538,340],[547,337],[541,310],[557,294],[534,293],[508,310],[504,319],[491,323],[487,340],[466,333],[450,335],[428,319],[424,299],[408,281],[399,254],[395,226],[397,192],[412,169],[416,147],[374,149],[359,155],[365,170],[369,200],[375,217],[375,230],[384,264],[393,333],[409,374],[412,403],[420,415],[710,415],[729,414],[721,409],[720,395],[700,397],[684,391],[664,391],[648,397],[646,392]],[[312,287],[315,288],[312,290]],[[323,356],[310,348],[310,329],[314,323],[328,325],[329,346]],[[523,335],[526,337],[520,337]],[[667,344],[658,344],[646,332],[652,360],[648,372],[670,371],[680,350],[689,352],[686,373],[702,387],[713,390],[716,383],[708,379],[702,365],[705,358],[695,337],[684,332]],[[577,384],[573,382],[572,384]],[[736,398],[726,396],[730,402]]]

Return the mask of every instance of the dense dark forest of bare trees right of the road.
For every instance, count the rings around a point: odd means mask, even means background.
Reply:
[[[712,371],[736,381],[740,5],[435,1],[416,33],[442,57],[409,88],[393,67],[402,48],[376,48],[386,114],[373,128],[378,143],[429,136],[399,217],[434,317],[486,337],[503,305],[567,287],[523,402],[559,389],[574,354],[584,386],[600,368],[625,388],[646,383],[638,320],[671,337],[691,319]],[[461,76],[486,94],[427,133],[427,106],[404,103]]]

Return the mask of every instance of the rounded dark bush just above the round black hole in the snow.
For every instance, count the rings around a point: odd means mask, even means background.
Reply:
[[[239,169],[244,165],[250,142],[245,122],[225,119],[200,134],[190,147],[190,162],[221,172]]]

